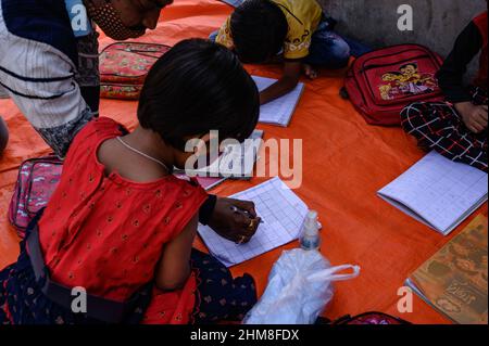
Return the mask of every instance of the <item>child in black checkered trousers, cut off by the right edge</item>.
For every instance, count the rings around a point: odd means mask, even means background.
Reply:
[[[418,146],[484,171],[488,170],[487,11],[459,35],[437,78],[446,102],[416,102],[401,112],[402,127]],[[480,52],[479,72],[463,84],[471,61]]]

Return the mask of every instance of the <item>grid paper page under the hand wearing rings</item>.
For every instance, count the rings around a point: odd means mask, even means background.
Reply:
[[[258,215],[264,221],[247,244],[235,244],[220,236],[211,228],[199,225],[211,254],[226,267],[264,254],[299,238],[308,214],[308,206],[279,178],[233,195],[234,198],[253,201]]]

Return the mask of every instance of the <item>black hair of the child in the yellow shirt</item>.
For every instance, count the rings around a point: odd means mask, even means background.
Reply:
[[[269,0],[247,0],[230,17],[235,51],[243,63],[263,63],[284,47],[289,25]]]

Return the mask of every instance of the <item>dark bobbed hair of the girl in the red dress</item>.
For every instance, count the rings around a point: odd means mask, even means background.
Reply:
[[[138,119],[165,143],[184,151],[185,137],[218,130],[220,140],[242,142],[256,126],[256,85],[221,44],[184,40],[160,57],[139,98]]]

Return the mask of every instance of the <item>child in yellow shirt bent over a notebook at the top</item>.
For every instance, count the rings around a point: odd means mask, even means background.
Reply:
[[[342,68],[351,55],[316,0],[242,1],[214,37],[243,63],[284,62],[283,77],[261,92],[261,104],[290,92],[302,72],[314,79],[314,67]]]

